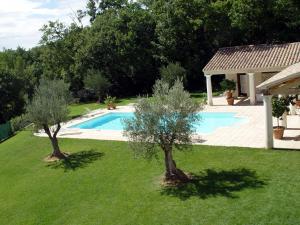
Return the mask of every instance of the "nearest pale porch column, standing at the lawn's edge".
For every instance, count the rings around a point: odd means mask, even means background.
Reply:
[[[264,95],[265,111],[265,148],[273,148],[273,117],[272,117],[272,95]]]

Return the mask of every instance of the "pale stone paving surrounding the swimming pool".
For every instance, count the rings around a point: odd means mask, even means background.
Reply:
[[[262,105],[249,105],[247,100],[236,100],[236,105],[228,106],[224,97],[214,98],[214,106],[205,106],[205,112],[235,112],[236,116],[247,118],[247,122],[230,127],[221,127],[212,134],[195,135],[194,144],[238,146],[263,148],[265,146],[264,109]],[[119,106],[116,112],[133,112],[132,105]],[[97,140],[126,141],[122,131],[84,130],[68,128],[74,124],[95,118],[108,113],[106,109],[94,110],[91,113],[73,119],[63,124],[58,134],[59,138],[80,138]],[[274,120],[275,124],[275,120]],[[275,148],[300,149],[300,115],[288,116],[288,128],[285,130],[283,140],[275,140]],[[46,136],[45,133],[36,133],[37,136]]]

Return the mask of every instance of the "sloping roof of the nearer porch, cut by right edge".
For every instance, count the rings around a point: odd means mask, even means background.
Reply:
[[[275,74],[270,79],[264,81],[257,86],[258,89],[269,89],[280,84],[284,84],[287,81],[300,78],[300,62],[287,67],[281,72]]]

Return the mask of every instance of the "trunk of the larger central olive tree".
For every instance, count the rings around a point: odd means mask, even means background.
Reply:
[[[165,177],[167,181],[189,181],[188,176],[180,169],[176,167],[176,163],[173,160],[172,148],[168,148],[165,151]]]

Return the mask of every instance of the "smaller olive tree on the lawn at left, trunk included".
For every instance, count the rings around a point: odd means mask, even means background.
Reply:
[[[37,129],[44,129],[51,140],[51,157],[65,158],[60,151],[57,134],[61,123],[68,117],[69,85],[62,80],[41,79],[32,100],[27,105],[27,115]]]

